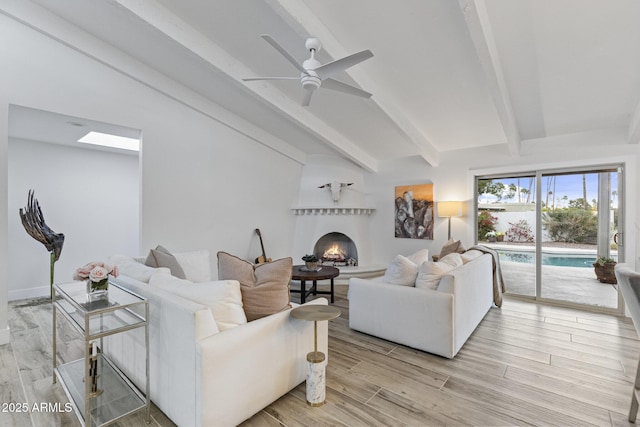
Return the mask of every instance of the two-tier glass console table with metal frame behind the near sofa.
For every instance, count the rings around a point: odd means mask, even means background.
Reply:
[[[82,425],[102,426],[145,410],[149,400],[149,304],[147,300],[109,283],[102,297],[87,295],[85,282],[54,285],[53,382],[60,380]],[[84,337],[85,357],[57,366],[56,316],[60,312]],[[136,328],[145,330],[146,390],[136,386],[102,353],[102,338]],[[89,378],[89,381],[85,379]]]

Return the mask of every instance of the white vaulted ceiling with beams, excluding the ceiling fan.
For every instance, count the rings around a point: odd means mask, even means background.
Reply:
[[[636,0],[33,0],[306,154],[370,171],[448,150],[590,134],[640,140]],[[370,49],[335,76],[370,99],[297,81],[315,36],[322,63]],[[611,137],[617,135],[618,137]],[[554,139],[555,138],[555,139]],[[564,138],[564,139],[563,139]],[[547,145],[548,146],[548,145]]]

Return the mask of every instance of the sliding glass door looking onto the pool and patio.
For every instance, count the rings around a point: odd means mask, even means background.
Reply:
[[[619,310],[617,286],[599,282],[593,263],[624,258],[622,173],[614,165],[478,177],[478,242],[500,254],[508,293]]]

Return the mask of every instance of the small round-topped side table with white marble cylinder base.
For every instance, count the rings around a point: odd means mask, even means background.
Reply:
[[[307,403],[311,406],[324,405],[326,396],[326,356],[318,351],[318,322],[339,317],[338,307],[329,305],[305,305],[291,310],[291,317],[313,321],[313,351],[307,354]]]

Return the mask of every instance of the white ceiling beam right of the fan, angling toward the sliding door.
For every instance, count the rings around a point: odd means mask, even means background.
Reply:
[[[520,154],[520,134],[484,0],[458,0],[487,79],[511,155]]]

